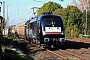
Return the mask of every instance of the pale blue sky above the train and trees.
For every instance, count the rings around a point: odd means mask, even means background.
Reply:
[[[1,0],[5,1],[5,17],[7,17],[7,5],[8,5],[8,17],[9,25],[17,25],[23,21],[28,20],[33,15],[32,7],[41,7],[48,1],[59,3],[61,6],[66,7],[67,4],[72,4],[72,0],[36,0],[42,2],[36,2],[34,0]],[[3,8],[3,6],[1,5]],[[3,10],[1,11],[3,12]],[[3,13],[1,13],[3,15]],[[6,18],[7,19],[7,18]]]

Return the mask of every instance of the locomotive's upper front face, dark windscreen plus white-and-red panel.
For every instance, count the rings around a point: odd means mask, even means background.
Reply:
[[[63,21],[59,16],[44,16],[41,22],[45,34],[60,34],[63,31]]]

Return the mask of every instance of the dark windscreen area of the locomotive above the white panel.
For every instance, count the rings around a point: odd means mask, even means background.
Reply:
[[[63,21],[58,16],[44,16],[42,18],[42,26],[44,27],[61,27],[63,30]]]

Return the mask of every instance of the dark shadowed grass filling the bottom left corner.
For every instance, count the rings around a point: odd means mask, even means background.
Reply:
[[[33,58],[28,58],[26,55],[19,55],[16,51],[6,49],[5,53],[1,57],[1,60],[34,60]]]

